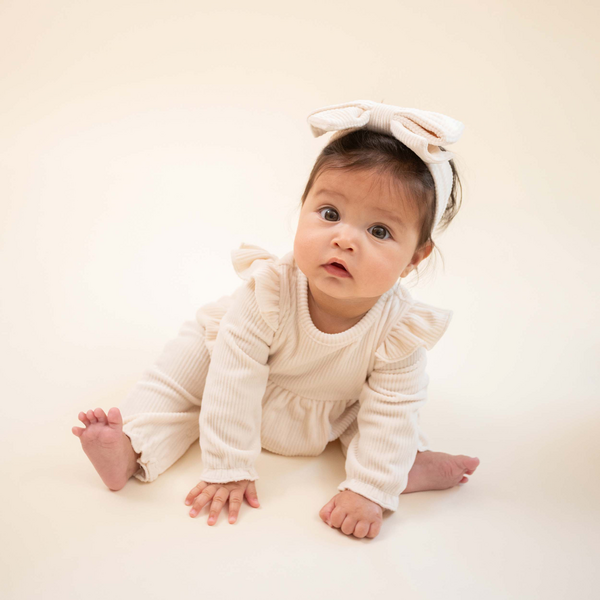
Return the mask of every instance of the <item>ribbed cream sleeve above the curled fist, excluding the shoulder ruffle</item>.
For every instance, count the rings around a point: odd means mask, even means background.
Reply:
[[[418,347],[395,362],[377,360],[360,394],[358,432],[346,455],[350,489],[395,511],[419,443],[418,411],[427,399],[427,351]]]

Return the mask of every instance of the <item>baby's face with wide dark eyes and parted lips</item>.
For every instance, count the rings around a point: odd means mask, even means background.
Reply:
[[[316,286],[340,300],[376,301],[431,252],[428,247],[415,253],[417,219],[387,176],[324,171],[302,207],[294,258],[311,289]],[[344,261],[350,277],[323,267],[336,258]]]

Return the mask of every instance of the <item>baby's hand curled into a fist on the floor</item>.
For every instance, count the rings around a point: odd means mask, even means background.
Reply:
[[[330,527],[341,528],[346,535],[374,538],[381,529],[383,509],[379,504],[353,492],[336,494],[319,512]]]

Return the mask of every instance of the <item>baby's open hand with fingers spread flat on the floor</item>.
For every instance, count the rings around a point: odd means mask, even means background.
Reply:
[[[201,481],[187,495],[185,503],[189,505],[196,498],[194,506],[192,506],[192,510],[190,511],[190,517],[194,518],[202,510],[202,507],[212,500],[208,524],[214,525],[223,505],[227,501],[227,498],[229,498],[229,522],[235,523],[240,506],[244,500],[244,495],[251,506],[254,508],[260,506],[254,481],[249,481],[248,479],[231,481],[229,483],[207,483],[206,481]]]

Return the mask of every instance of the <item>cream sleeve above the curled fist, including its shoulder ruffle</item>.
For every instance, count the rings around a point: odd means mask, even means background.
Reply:
[[[419,447],[419,409],[427,400],[427,350],[446,332],[453,311],[413,302],[375,352],[359,397],[357,432],[346,452],[350,489],[395,511]]]

